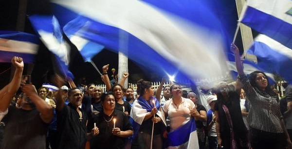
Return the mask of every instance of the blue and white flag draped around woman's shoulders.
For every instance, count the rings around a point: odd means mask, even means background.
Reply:
[[[152,103],[153,102],[152,100],[155,101],[155,106],[157,108],[156,114],[162,119],[164,126],[166,127],[164,112],[162,111],[162,107],[160,106],[159,101],[155,97],[153,97],[149,104],[146,101],[146,99],[143,98],[143,96],[140,96],[137,100],[134,101],[132,109],[131,109],[131,113],[130,113],[130,123],[134,130],[134,134],[132,138],[136,137],[146,114],[151,112],[151,110],[154,108],[154,104]],[[155,126],[156,125],[154,125],[154,127]]]

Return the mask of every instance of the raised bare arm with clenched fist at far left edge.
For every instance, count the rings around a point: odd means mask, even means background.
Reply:
[[[20,86],[24,66],[21,57],[13,57],[11,63],[13,64],[13,66],[16,67],[13,79],[9,84],[7,84],[4,88],[0,90],[0,111],[3,112],[6,111],[6,109],[8,108],[13,96]]]

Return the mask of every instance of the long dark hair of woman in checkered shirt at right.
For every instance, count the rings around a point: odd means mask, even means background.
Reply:
[[[251,83],[251,85],[254,87],[254,88],[257,88],[258,90],[262,91],[257,85],[256,85],[256,76],[257,74],[259,73],[262,73],[266,78],[267,78],[267,87],[265,88],[265,92],[268,93],[270,96],[276,96],[277,94],[272,90],[272,88],[270,87],[270,83],[269,83],[269,80],[268,80],[268,77],[267,75],[262,72],[262,71],[254,71],[252,72],[250,75],[249,75],[249,81]]]

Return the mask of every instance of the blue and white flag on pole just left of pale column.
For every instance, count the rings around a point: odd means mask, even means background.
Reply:
[[[80,22],[80,19],[77,17],[72,21],[68,22],[63,28],[64,33],[69,37],[70,41],[77,47],[85,62],[91,62],[92,57],[94,57],[94,55],[96,55],[105,48],[104,46],[92,42],[88,39],[85,39],[84,37],[79,35],[82,34],[79,32],[89,31],[88,28],[91,23],[92,21]],[[77,26],[76,24],[82,25],[80,26],[80,28],[76,28]]]

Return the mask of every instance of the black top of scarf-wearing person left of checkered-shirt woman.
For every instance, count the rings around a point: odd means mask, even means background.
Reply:
[[[245,136],[247,133],[246,126],[244,125],[241,109],[240,109],[240,96],[234,92],[229,92],[229,98],[227,101],[222,99],[222,96],[217,96],[218,102],[215,104],[215,111],[219,111],[219,120],[220,120],[220,133],[221,136],[230,137],[230,127],[226,118],[226,114],[222,108],[224,104],[230,113],[232,119],[232,125],[235,135]]]

